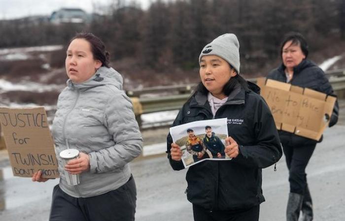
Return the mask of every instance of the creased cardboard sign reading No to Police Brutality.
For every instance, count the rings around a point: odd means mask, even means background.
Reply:
[[[321,138],[329,123],[324,116],[332,115],[337,98],[289,83],[266,81],[266,78],[259,78],[257,84],[278,130],[314,140]]]

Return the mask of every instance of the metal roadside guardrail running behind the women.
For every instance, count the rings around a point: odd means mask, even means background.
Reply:
[[[345,97],[345,69],[343,70],[334,70],[326,72],[328,75],[330,83],[332,84],[333,89],[339,98]],[[247,81],[256,83],[256,79],[247,79]],[[176,86],[158,86],[143,88],[139,90],[132,90],[128,94],[136,95],[136,98],[132,98],[134,103],[135,113],[137,120],[141,125],[140,115],[144,113],[152,113],[158,111],[173,111],[179,110],[182,105],[187,101],[191,96],[196,84],[184,84]],[[169,92],[169,93],[168,93]],[[153,94],[158,93],[159,96],[156,97],[144,97],[144,94]],[[166,94],[177,93],[175,95],[166,95]],[[164,94],[164,95],[162,95]],[[142,96],[142,97],[140,97]],[[139,108],[138,108],[139,107]]]

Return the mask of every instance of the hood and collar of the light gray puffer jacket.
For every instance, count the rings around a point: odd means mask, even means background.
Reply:
[[[100,67],[97,72],[88,80],[82,83],[74,83],[70,79],[67,80],[69,89],[87,90],[91,87],[97,87],[105,84],[114,85],[119,90],[122,90],[123,78],[113,68]]]

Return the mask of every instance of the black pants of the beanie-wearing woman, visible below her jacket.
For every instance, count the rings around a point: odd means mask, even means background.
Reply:
[[[207,211],[193,204],[194,221],[258,221],[260,205],[237,211]]]

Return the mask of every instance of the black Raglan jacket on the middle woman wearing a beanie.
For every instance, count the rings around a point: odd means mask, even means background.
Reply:
[[[187,198],[207,210],[250,208],[265,201],[261,168],[275,164],[282,155],[276,125],[264,99],[240,84],[215,114],[215,118],[223,117],[228,119],[229,136],[238,143],[240,154],[229,161],[203,161],[189,167]],[[196,92],[183,105],[173,126],[212,118],[207,95]],[[183,169],[181,161],[171,158],[170,134],[167,142],[171,166],[174,170]]]

